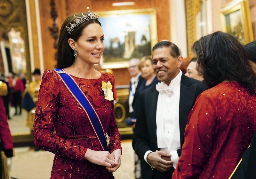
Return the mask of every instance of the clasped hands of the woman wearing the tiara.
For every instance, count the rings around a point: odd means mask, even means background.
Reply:
[[[108,151],[95,151],[88,148],[84,159],[105,166],[109,172],[115,172],[121,165],[121,149],[116,149],[110,154]]]

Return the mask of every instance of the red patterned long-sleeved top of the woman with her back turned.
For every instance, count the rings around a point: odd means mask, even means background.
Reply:
[[[228,179],[256,130],[256,97],[237,82],[201,93],[172,179]]]

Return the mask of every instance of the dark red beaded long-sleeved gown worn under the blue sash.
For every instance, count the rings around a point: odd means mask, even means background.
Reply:
[[[121,149],[113,101],[104,98],[101,82],[114,86],[114,76],[101,73],[99,79],[72,76],[100,118],[110,136],[109,152]],[[113,90],[113,88],[112,88]],[[54,132],[55,130],[55,132]],[[36,107],[34,136],[36,146],[55,154],[51,178],[114,178],[112,172],[84,160],[87,148],[103,151],[81,106],[54,70],[43,74]]]

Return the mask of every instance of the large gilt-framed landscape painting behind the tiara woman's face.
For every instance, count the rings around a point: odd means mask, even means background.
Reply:
[[[131,58],[151,55],[157,43],[155,9],[99,12],[105,50],[101,68],[127,68]]]

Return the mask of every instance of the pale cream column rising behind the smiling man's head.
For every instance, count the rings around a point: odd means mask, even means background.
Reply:
[[[176,44],[183,58],[188,57],[185,0],[169,0],[171,42]]]

